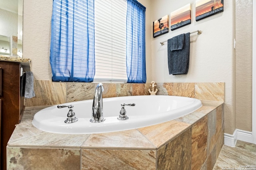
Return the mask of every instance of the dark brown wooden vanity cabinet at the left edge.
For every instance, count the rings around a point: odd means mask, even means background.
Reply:
[[[1,100],[1,170],[6,170],[6,146],[25,109],[24,97],[20,95],[21,64],[18,62],[0,61],[2,80],[0,82]],[[1,71],[0,71],[1,72]]]

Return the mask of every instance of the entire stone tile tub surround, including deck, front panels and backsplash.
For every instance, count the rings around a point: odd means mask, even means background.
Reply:
[[[204,170],[214,167],[224,144],[224,83],[156,83],[158,95],[198,98],[203,106],[158,125],[91,135],[46,133],[31,120],[48,105],[92,99],[97,83],[34,84],[36,97],[26,99],[22,122],[8,143],[8,169]],[[103,85],[108,98],[149,95],[151,83]]]

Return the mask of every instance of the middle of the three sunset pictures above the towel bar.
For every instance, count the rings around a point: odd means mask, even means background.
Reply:
[[[171,12],[171,31],[191,23],[191,4],[187,4],[178,10]]]

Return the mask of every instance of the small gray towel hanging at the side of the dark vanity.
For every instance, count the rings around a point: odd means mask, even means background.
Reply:
[[[25,83],[25,98],[32,98],[35,97],[34,92],[34,76],[31,71],[26,71],[26,83]]]

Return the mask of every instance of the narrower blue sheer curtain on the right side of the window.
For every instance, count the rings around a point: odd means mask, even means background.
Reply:
[[[127,0],[126,71],[128,83],[146,83],[145,11],[136,0]]]

